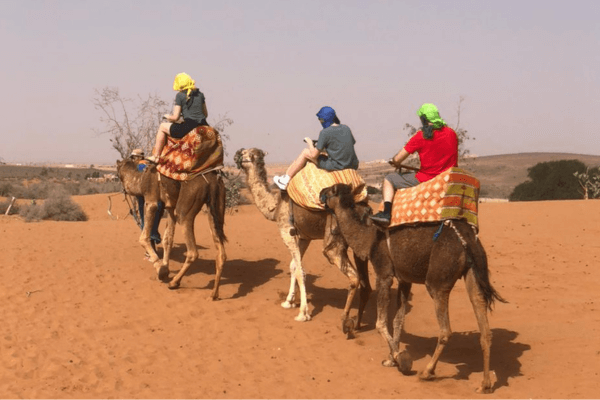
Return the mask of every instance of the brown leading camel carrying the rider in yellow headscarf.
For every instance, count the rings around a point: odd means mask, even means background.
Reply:
[[[137,164],[125,159],[117,161],[117,174],[123,183],[125,193],[133,196],[144,196],[144,229],[140,235],[140,244],[150,254],[150,261],[160,280],[169,277],[169,256],[173,248],[175,222],[183,227],[186,254],[185,262],[177,275],[169,282],[169,289],[176,289],[181,283],[190,265],[198,258],[196,237],[194,236],[194,221],[196,215],[206,204],[209,209],[208,222],[213,241],[217,249],[215,286],[210,298],[219,298],[219,282],[223,272],[223,264],[227,259],[224,243],[227,240],[223,232],[225,223],[225,184],[218,171],[198,175],[188,181],[177,181],[159,174],[156,166],[150,166],[143,172],[137,171]],[[165,203],[167,226],[163,234],[162,261],[150,243],[150,229],[154,222],[158,201]]]

